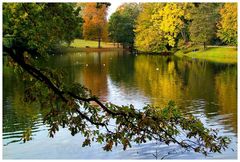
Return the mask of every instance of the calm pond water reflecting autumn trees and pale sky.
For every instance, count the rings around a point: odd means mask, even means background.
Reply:
[[[182,111],[192,112],[205,126],[217,128],[232,143],[222,154],[204,157],[180,152],[176,145],[154,141],[133,145],[127,151],[115,147],[104,152],[100,144],[82,148],[81,135],[72,137],[61,129],[54,139],[42,124],[45,109],[21,102],[24,83],[9,67],[3,73],[3,159],[236,159],[237,158],[237,65],[195,59],[122,52],[69,53],[52,56],[48,66],[67,71],[66,82],[79,82],[102,101],[136,107],[151,103],[164,106],[174,100]],[[23,144],[25,128],[33,130],[33,140]]]

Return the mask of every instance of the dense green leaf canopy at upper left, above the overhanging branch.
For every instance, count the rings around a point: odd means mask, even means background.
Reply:
[[[63,42],[70,44],[82,24],[80,8],[74,7],[71,3],[4,3],[3,42],[39,54]]]

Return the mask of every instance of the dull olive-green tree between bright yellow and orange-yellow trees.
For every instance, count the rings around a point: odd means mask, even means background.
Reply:
[[[190,38],[193,42],[206,44],[216,36],[219,4],[201,3],[192,9]]]

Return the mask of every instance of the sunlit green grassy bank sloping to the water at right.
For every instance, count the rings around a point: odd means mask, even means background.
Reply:
[[[237,49],[233,47],[208,47],[206,50],[184,53],[182,50],[175,53],[178,57],[204,59],[219,63],[237,63]]]

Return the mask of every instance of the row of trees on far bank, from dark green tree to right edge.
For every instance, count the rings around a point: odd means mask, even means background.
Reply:
[[[237,3],[125,3],[109,20],[112,41],[142,52],[237,45]]]

